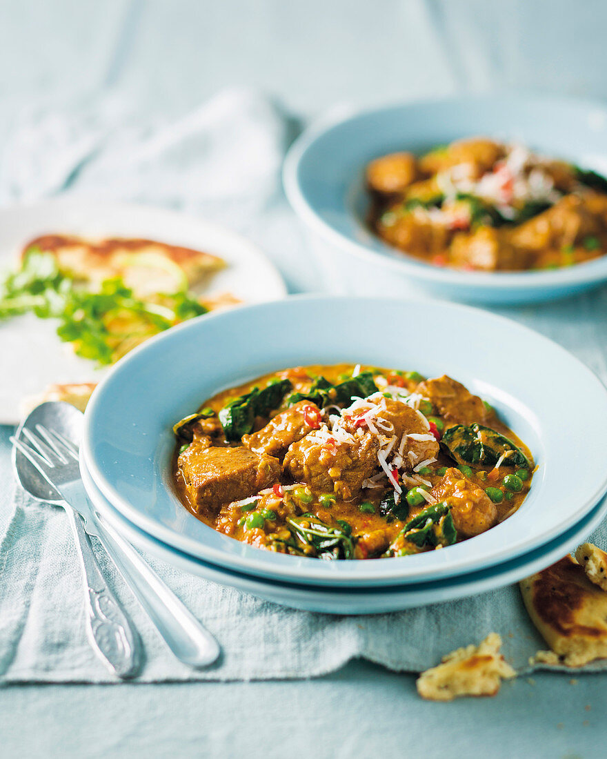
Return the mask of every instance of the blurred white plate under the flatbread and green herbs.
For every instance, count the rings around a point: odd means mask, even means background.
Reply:
[[[228,267],[209,294],[231,292],[245,303],[284,298],[278,271],[249,241],[212,223],[174,211],[132,203],[61,198],[0,211],[0,272],[9,269],[27,241],[49,232],[83,237],[140,237],[184,245],[222,257]],[[33,315],[0,322],[0,423],[15,424],[24,396],[52,383],[98,382],[106,369],[74,355],[55,334],[55,320]]]

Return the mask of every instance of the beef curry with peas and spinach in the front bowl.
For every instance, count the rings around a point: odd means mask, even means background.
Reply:
[[[320,559],[407,556],[494,527],[533,458],[448,376],[296,367],[220,392],[175,424],[184,506],[244,543]]]

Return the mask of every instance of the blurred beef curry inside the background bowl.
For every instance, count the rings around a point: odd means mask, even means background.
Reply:
[[[607,251],[607,181],[486,138],[370,162],[370,225],[435,266],[556,269]]]

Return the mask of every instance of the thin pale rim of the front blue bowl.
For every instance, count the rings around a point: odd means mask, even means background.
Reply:
[[[93,451],[95,441],[94,428],[96,425],[96,415],[100,414],[102,418],[103,411],[100,411],[100,409],[104,403],[107,405],[108,401],[109,408],[111,409],[113,407],[113,384],[122,383],[124,376],[129,376],[130,367],[134,367],[134,370],[137,371],[141,366],[143,366],[146,367],[146,372],[149,372],[149,367],[155,367],[159,354],[162,355],[162,348],[165,345],[165,342],[178,340],[178,345],[180,345],[181,340],[178,338],[179,335],[183,335],[183,339],[187,343],[187,341],[192,337],[190,333],[195,334],[197,331],[200,331],[201,334],[204,334],[205,330],[215,329],[212,325],[217,323],[218,320],[219,323],[222,321],[228,322],[227,327],[229,328],[230,320],[238,320],[239,322],[241,320],[246,321],[247,315],[250,315],[250,313],[252,311],[254,312],[255,310],[260,310],[262,312],[264,310],[269,310],[272,318],[275,318],[274,312],[276,310],[288,311],[292,308],[297,309],[298,304],[304,304],[304,307],[308,313],[310,311],[310,305],[318,308],[324,304],[324,307],[330,309],[331,306],[329,304],[345,303],[345,307],[348,307],[348,304],[351,304],[350,307],[355,308],[356,310],[360,310],[361,304],[364,305],[365,302],[367,305],[376,305],[379,304],[380,301],[383,307],[392,306],[395,308],[409,308],[412,302],[423,304],[425,307],[427,307],[429,304],[429,301],[423,299],[420,299],[418,301],[403,301],[402,299],[398,298],[392,300],[382,298],[338,298],[304,294],[295,296],[293,298],[288,298],[284,301],[271,301],[266,304],[252,304],[250,306],[241,307],[241,309],[238,311],[225,311],[223,313],[215,313],[211,314],[210,316],[207,315],[203,318],[190,320],[189,322],[185,322],[171,330],[168,330],[168,332],[156,335],[156,337],[153,339],[150,339],[149,341],[143,343],[143,345],[135,348],[134,351],[131,351],[130,354],[127,354],[127,356],[122,358],[121,361],[119,361],[118,364],[112,368],[108,375],[102,379],[102,382],[93,393],[90,404],[86,408],[83,426],[83,440],[80,450],[97,487],[99,487],[99,490],[102,491],[104,496],[108,498],[112,505],[115,505],[115,507],[122,514],[124,514],[127,519],[129,519],[129,521],[134,522],[134,524],[137,524],[149,534],[153,534],[155,537],[159,537],[159,539],[163,540],[165,543],[169,543],[180,548],[181,550],[184,550],[185,553],[200,556],[201,558],[215,564],[240,568],[241,571],[250,572],[252,574],[290,578],[292,580],[297,580],[303,583],[309,581],[319,581],[326,582],[327,584],[339,584],[341,582],[351,583],[354,581],[357,583],[361,582],[368,584],[387,584],[391,582],[415,581],[416,578],[420,578],[420,576],[423,575],[431,575],[433,577],[438,577],[441,575],[453,575],[460,571],[460,567],[465,567],[466,571],[468,567],[476,566],[478,568],[480,566],[486,565],[488,562],[492,563],[498,560],[502,560],[504,556],[511,556],[513,555],[513,551],[520,553],[523,550],[531,550],[533,546],[546,543],[547,540],[551,540],[552,537],[555,537],[555,535],[558,535],[562,531],[568,529],[571,524],[574,524],[575,521],[583,517],[584,514],[593,508],[593,505],[598,502],[599,498],[601,498],[605,492],[607,492],[607,471],[605,471],[602,475],[598,475],[596,483],[593,483],[592,492],[587,492],[584,496],[582,504],[576,509],[568,511],[566,518],[565,515],[563,515],[561,521],[559,521],[558,524],[553,525],[552,528],[550,528],[548,531],[539,531],[539,533],[533,535],[532,539],[530,539],[528,536],[524,539],[521,539],[514,549],[512,548],[511,541],[505,548],[502,546],[492,546],[490,551],[487,550],[487,547],[483,543],[484,553],[483,550],[480,550],[479,546],[479,550],[476,551],[476,558],[474,558],[474,554],[473,559],[464,558],[459,559],[459,561],[456,560],[455,557],[453,561],[448,561],[447,559],[439,559],[439,561],[436,561],[435,558],[435,565],[432,565],[432,568],[429,568],[429,565],[432,564],[432,562],[427,558],[424,559],[424,557],[427,557],[434,552],[420,555],[419,559],[422,560],[418,560],[417,562],[410,562],[410,557],[407,557],[407,564],[404,563],[405,559],[398,558],[375,559],[371,562],[313,562],[310,559],[300,559],[298,561],[297,557],[283,556],[281,554],[259,550],[253,548],[253,546],[247,546],[242,543],[238,544],[240,546],[239,553],[231,553],[230,550],[224,550],[216,546],[206,545],[202,540],[198,538],[194,538],[190,535],[184,534],[183,532],[178,532],[174,528],[169,528],[167,524],[162,523],[162,521],[159,521],[158,518],[153,518],[147,515],[143,509],[138,508],[137,505],[131,503],[126,496],[123,496],[115,483],[112,483],[111,477],[106,476],[102,465],[99,464],[99,461],[96,461],[96,456]],[[576,378],[578,380],[583,379],[587,385],[590,383],[591,392],[593,392],[593,394],[596,395],[596,398],[599,399],[599,403],[602,404],[605,416],[607,416],[607,389],[605,389],[605,386],[602,384],[600,379],[585,364],[583,364],[576,357],[566,351],[565,348],[562,348],[552,340],[549,340],[543,335],[539,335],[539,333],[534,332],[532,329],[529,329],[526,326],[514,323],[505,317],[487,313],[486,311],[480,310],[478,308],[445,302],[432,303],[432,307],[435,307],[439,310],[447,310],[451,318],[453,318],[454,314],[457,316],[458,314],[464,313],[467,314],[468,318],[471,320],[482,317],[484,323],[487,323],[488,321],[491,323],[489,326],[492,326],[492,334],[495,334],[495,329],[498,325],[500,325],[502,329],[514,329],[517,333],[517,335],[515,335],[517,338],[524,336],[526,339],[533,340],[533,344],[536,349],[539,346],[543,345],[547,350],[551,351],[552,358],[555,359],[557,363],[559,360],[565,361],[566,364],[574,367]],[[473,323],[476,322],[473,321]],[[191,343],[187,344],[191,345]],[[445,368],[448,369],[448,367]],[[126,383],[123,384],[123,387],[124,386],[130,388],[132,384]],[[495,389],[498,389],[498,386],[495,386]],[[105,398],[105,396],[108,394],[109,398]],[[107,412],[108,408],[106,408],[105,411]],[[533,409],[531,411],[533,412]],[[156,450],[157,449],[158,444],[156,443]],[[118,464],[118,462],[115,462],[115,464]],[[166,463],[164,466],[166,466]],[[162,485],[162,487],[164,488],[164,485]],[[168,499],[171,500],[171,504],[175,505],[178,503],[174,493],[171,493],[168,489],[166,489],[165,494]],[[179,505],[181,506],[181,504]],[[182,506],[181,508],[183,509]],[[185,515],[187,515],[187,517]],[[185,509],[184,518],[191,518],[192,520],[196,520],[196,517],[189,515]],[[236,542],[234,539],[228,536],[218,534],[216,531],[213,531],[212,528],[206,526],[200,521],[197,522],[198,524],[201,524],[205,530],[212,531],[215,536],[219,535],[222,541],[229,541],[229,543],[222,544],[228,546]],[[502,524],[507,524],[507,522]],[[498,527],[499,526],[501,525],[498,525]],[[508,528],[508,531],[510,531],[510,529],[511,528]],[[492,532],[493,531],[488,531],[485,535]],[[500,534],[500,536],[501,535],[502,534]],[[483,535],[479,536],[475,540],[483,540]],[[490,542],[494,542],[494,540],[492,539]],[[454,548],[455,547],[457,546],[454,546]],[[442,556],[449,555],[448,552],[440,553]],[[480,558],[478,556],[479,554]],[[305,568],[302,569],[300,564],[304,560],[307,563],[304,565]],[[459,566],[456,566],[454,568],[453,565]]]

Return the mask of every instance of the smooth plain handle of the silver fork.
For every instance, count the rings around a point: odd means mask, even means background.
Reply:
[[[131,543],[95,512],[98,537],[165,643],[184,664],[203,667],[219,657],[219,644],[156,575]]]

